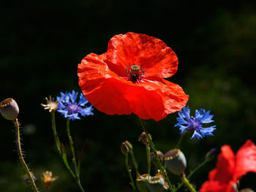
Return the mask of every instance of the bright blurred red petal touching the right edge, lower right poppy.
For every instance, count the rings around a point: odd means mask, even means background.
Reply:
[[[247,140],[236,153],[235,178],[240,180],[247,172],[256,172],[256,146],[250,140]]]

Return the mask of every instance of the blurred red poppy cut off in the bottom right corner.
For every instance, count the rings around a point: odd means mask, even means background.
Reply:
[[[209,172],[209,180],[200,192],[236,192],[238,181],[247,172],[256,172],[256,146],[250,140],[234,155],[229,145],[222,147],[217,168]]]

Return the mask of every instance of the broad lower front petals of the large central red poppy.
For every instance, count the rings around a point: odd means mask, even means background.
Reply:
[[[187,103],[180,86],[157,77],[137,84],[125,80],[108,68],[105,57],[91,53],[78,65],[80,88],[99,111],[108,115],[133,112],[139,118],[161,120]]]

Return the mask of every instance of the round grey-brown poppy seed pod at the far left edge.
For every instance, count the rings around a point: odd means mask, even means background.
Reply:
[[[0,112],[7,120],[15,120],[19,114],[18,104],[12,98],[4,99],[0,103]]]

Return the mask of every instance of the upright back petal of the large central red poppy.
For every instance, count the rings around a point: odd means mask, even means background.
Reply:
[[[108,43],[107,61],[110,70],[126,76],[127,66],[145,67],[145,77],[171,77],[178,69],[178,58],[162,40],[146,34],[118,34]]]

